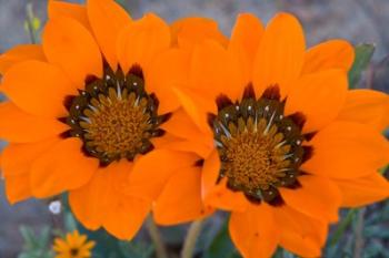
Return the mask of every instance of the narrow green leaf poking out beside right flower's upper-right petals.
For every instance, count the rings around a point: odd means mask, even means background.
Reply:
[[[355,89],[362,72],[368,68],[371,56],[375,53],[373,44],[359,44],[356,47],[356,59],[349,72],[350,89]]]

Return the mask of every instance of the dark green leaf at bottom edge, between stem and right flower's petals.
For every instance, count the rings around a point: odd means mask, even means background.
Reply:
[[[217,236],[213,238],[208,250],[206,250],[203,258],[218,258],[218,257],[240,257],[237,256],[233,244],[231,242],[228,233],[228,221],[223,224]]]

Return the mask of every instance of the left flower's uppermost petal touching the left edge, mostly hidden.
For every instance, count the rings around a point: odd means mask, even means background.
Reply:
[[[0,55],[0,74],[4,74],[13,64],[27,60],[46,61],[41,45],[20,44]]]

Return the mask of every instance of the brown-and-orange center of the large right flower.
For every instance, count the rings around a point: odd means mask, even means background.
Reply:
[[[243,192],[255,203],[276,204],[278,187],[296,187],[299,166],[309,154],[301,146],[305,117],[285,116],[278,86],[256,99],[251,85],[240,102],[217,100],[218,115],[210,115],[221,161],[219,180],[227,178],[231,190]]]

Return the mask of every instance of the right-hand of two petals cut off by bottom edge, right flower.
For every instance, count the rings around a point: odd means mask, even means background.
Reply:
[[[328,224],[306,216],[287,205],[276,207],[275,218],[281,229],[280,246],[301,257],[320,257]]]

